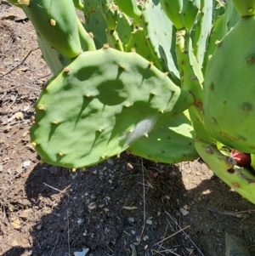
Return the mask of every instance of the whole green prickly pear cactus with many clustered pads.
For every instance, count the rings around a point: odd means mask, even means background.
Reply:
[[[199,154],[255,203],[255,174],[216,147],[252,153],[255,168],[255,0],[9,1],[31,20],[54,74],[31,127],[43,161]]]

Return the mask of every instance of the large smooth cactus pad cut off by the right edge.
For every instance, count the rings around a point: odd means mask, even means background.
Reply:
[[[212,137],[255,154],[254,17],[242,19],[218,44],[208,61],[204,115]],[[218,61],[220,60],[220,61]]]

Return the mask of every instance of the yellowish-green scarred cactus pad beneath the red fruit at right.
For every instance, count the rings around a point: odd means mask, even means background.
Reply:
[[[225,156],[218,151],[216,145],[201,139],[195,140],[195,149],[214,174],[241,196],[255,203],[254,171],[236,166],[232,157]]]

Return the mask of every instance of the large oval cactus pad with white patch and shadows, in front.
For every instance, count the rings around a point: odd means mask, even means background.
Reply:
[[[37,101],[31,142],[42,161],[81,168],[119,154],[193,103],[190,93],[139,54],[105,45],[80,54],[48,82]]]

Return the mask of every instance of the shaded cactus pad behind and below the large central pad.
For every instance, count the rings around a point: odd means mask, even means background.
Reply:
[[[191,161],[198,157],[194,141],[190,119],[181,114],[163,127],[155,128],[148,137],[139,138],[128,151],[156,162]]]

